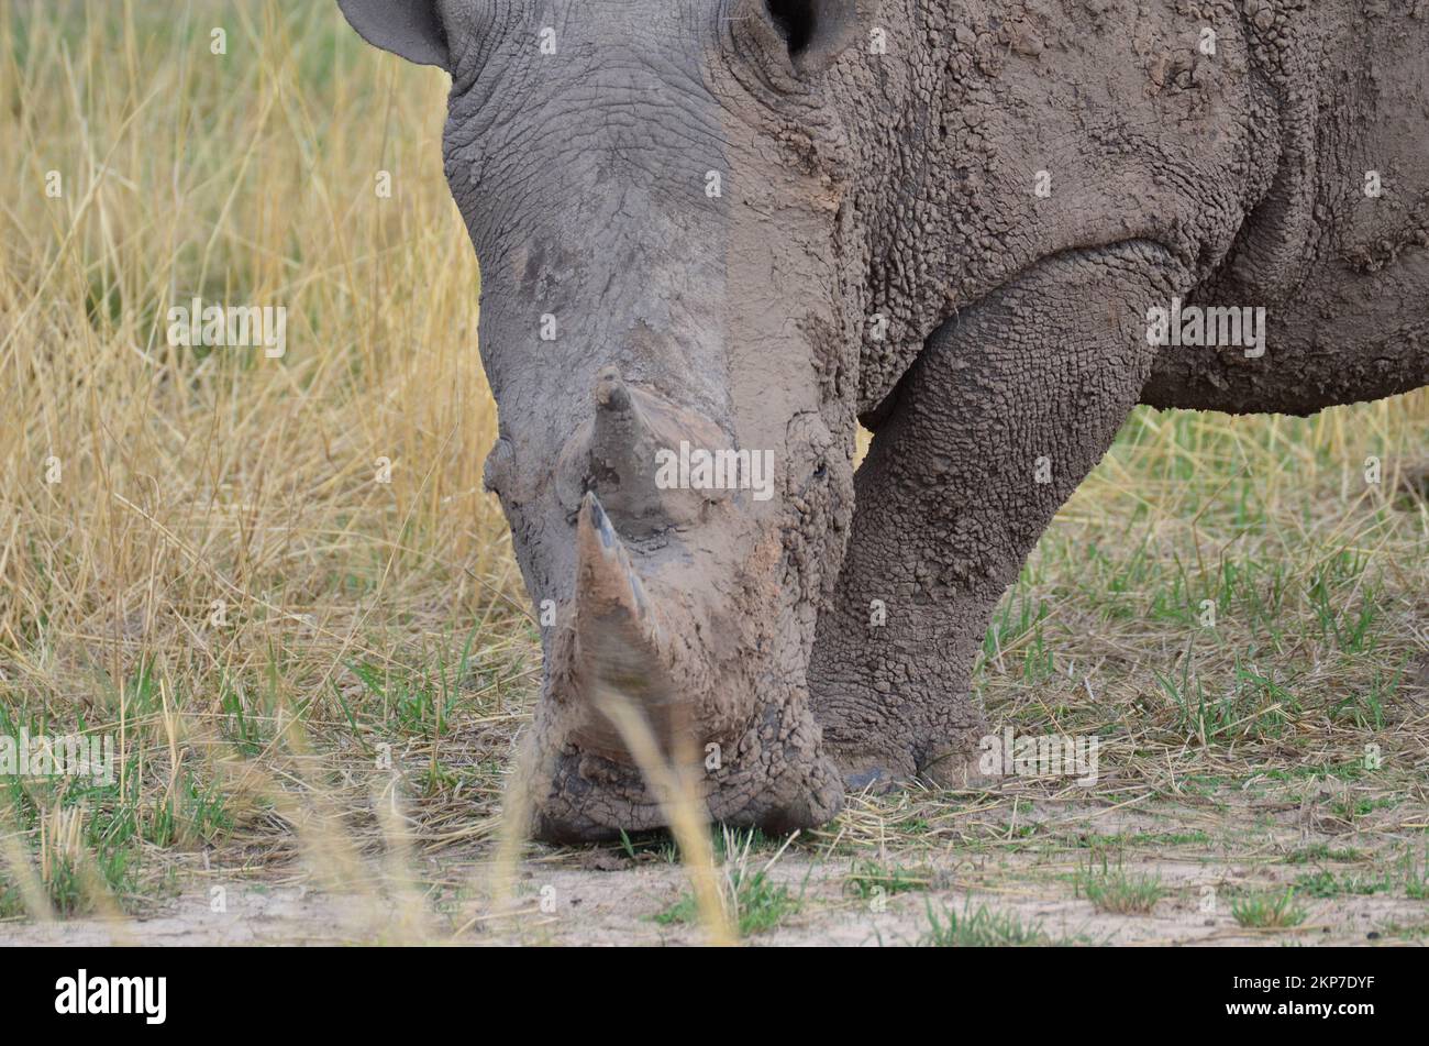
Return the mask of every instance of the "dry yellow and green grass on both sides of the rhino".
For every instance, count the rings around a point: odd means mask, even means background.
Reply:
[[[333,4],[0,7],[0,733],[113,733],[121,769],[0,783],[0,917],[133,910],[210,860],[392,903],[397,939],[433,932],[433,896],[484,917],[476,876],[416,869],[489,855],[539,646],[480,489],[494,410],[444,91]],[[170,347],[194,294],[286,306],[286,356]],[[985,699],[1107,732],[1109,805],[1380,743],[1382,786],[1422,809],[1426,462],[1425,393],[1140,412],[1005,602]],[[1209,713],[1177,704],[1192,682]],[[996,842],[983,809],[1009,810],[856,800],[810,845]]]

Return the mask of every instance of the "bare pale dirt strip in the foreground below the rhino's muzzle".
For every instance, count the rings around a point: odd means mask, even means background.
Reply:
[[[1285,789],[1196,805],[1096,802],[1013,786],[856,803],[829,833],[756,839],[745,856],[780,897],[756,946],[935,943],[935,925],[977,923],[965,945],[1403,945],[1429,939],[1420,803],[1358,825],[1346,790]],[[1033,793],[1042,792],[1037,797]],[[1349,792],[1353,799],[1353,790]],[[883,843],[877,843],[879,837]],[[482,847],[484,849],[484,847]],[[482,853],[449,852],[420,877],[383,862],[360,892],[299,870],[254,883],[214,870],[129,919],[0,923],[0,945],[697,945],[679,917],[689,880],[673,846],[540,850],[523,862],[509,915],[486,900]],[[1110,869],[1110,872],[1107,872]],[[1087,882],[1155,883],[1145,913],[1099,910]],[[197,879],[197,876],[194,877]],[[223,890],[216,910],[214,889]],[[1418,896],[1409,896],[1418,892]],[[1290,926],[1242,925],[1255,899],[1289,896]],[[419,897],[416,905],[413,897]],[[673,915],[672,915],[673,913]]]

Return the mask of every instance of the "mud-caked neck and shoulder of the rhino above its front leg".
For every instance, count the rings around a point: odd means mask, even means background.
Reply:
[[[1239,19],[1216,23],[1215,57],[1175,0],[883,0],[879,27],[885,57],[830,74],[885,320],[863,339],[863,414],[933,332],[1043,259],[1147,240],[1205,279],[1275,174]]]

